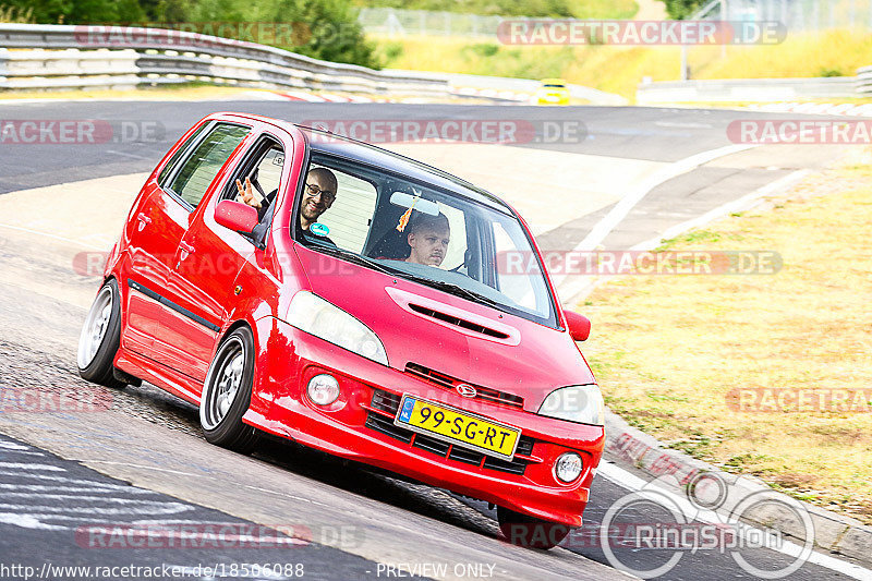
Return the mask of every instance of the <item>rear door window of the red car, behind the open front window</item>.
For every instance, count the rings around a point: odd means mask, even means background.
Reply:
[[[169,184],[175,195],[196,207],[249,128],[219,123],[196,146]]]

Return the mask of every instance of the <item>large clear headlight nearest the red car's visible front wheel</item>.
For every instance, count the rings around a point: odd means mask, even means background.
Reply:
[[[308,291],[291,299],[288,323],[325,341],[338,344],[383,365],[388,364],[385,346],[366,325]]]

